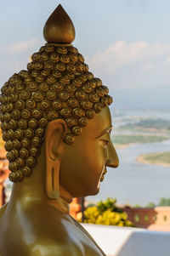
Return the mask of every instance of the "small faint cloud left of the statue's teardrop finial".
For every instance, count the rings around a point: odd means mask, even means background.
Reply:
[[[9,54],[19,54],[26,51],[28,48],[32,48],[39,43],[37,39],[31,39],[30,41],[23,41],[14,43],[8,47]]]

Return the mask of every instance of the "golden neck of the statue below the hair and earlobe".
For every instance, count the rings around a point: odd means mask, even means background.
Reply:
[[[46,157],[45,154],[41,153],[41,156],[37,159],[37,166],[33,168],[31,176],[13,185],[9,205],[13,207],[17,203],[24,206],[34,202],[42,202],[44,205],[49,204],[68,213],[68,204],[71,201],[71,195],[61,186],[59,198],[51,199],[48,197],[46,192]]]

